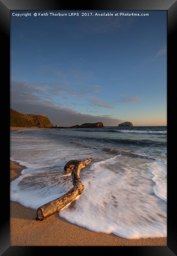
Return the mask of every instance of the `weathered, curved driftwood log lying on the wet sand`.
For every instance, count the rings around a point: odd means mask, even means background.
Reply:
[[[70,189],[65,195],[37,208],[37,220],[43,221],[56,211],[60,211],[63,207],[72,202],[74,199],[76,199],[78,195],[82,193],[84,185],[81,182],[79,173],[81,169],[84,168],[91,161],[92,158],[89,158],[85,161],[70,160],[68,163],[66,163],[64,170],[66,172],[72,171],[72,189]]]

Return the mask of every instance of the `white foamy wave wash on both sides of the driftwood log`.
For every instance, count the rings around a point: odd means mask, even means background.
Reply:
[[[83,193],[76,198],[74,207],[66,206],[59,216],[89,230],[127,239],[165,237],[166,211],[160,209],[159,199],[148,192],[148,180],[139,182],[140,173],[131,165],[124,172],[112,172],[109,165],[119,170],[119,161],[114,156],[92,163],[89,177],[83,179]],[[11,182],[11,200],[36,210],[72,187],[70,175],[26,172]]]

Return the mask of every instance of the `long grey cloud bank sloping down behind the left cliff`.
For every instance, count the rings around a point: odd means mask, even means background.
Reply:
[[[11,108],[28,114],[47,115],[50,121],[57,126],[72,126],[85,122],[103,122],[105,126],[114,126],[122,122],[120,119],[112,118],[111,115],[90,115],[70,108],[62,108],[59,102],[53,101],[50,97],[42,98],[35,87],[32,90],[25,83],[12,82],[11,89]],[[72,103],[75,104],[75,102]],[[107,105],[103,101],[100,101],[100,104]]]

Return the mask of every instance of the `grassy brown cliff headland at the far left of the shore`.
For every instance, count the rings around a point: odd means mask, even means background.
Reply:
[[[51,128],[53,124],[46,115],[24,114],[10,109],[10,126]]]

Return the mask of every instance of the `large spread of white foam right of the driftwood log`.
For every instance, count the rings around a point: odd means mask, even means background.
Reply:
[[[74,208],[66,206],[59,215],[90,230],[125,238],[166,236],[166,212],[150,193],[150,179],[141,180],[141,175],[148,177],[129,164],[121,167],[120,158],[92,164],[92,176],[84,180],[85,189]],[[108,169],[118,162],[118,173]]]

